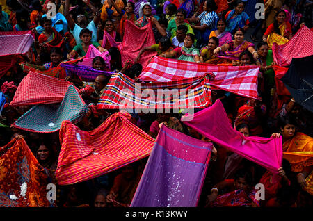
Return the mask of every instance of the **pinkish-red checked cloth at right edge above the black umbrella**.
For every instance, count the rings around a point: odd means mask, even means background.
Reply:
[[[281,67],[288,66],[292,58],[304,58],[313,55],[312,42],[313,32],[304,25],[286,44],[273,43],[272,50],[275,63]]]

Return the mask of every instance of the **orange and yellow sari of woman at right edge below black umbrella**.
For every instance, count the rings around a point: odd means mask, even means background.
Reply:
[[[291,163],[292,172],[301,172],[304,167],[313,165],[313,139],[304,133],[296,133],[294,138],[282,144],[283,158]],[[313,171],[305,179],[304,188],[313,195]]]

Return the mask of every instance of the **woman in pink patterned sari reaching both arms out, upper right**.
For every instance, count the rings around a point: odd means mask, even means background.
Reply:
[[[223,44],[221,47],[217,47],[214,50],[214,55],[219,58],[226,58],[230,60],[234,60],[234,62],[239,61],[239,55],[243,51],[250,51],[251,54],[253,54],[253,57],[255,60],[259,58],[259,55],[257,54],[257,51],[255,51],[255,44],[252,44],[251,42],[248,42],[246,40],[243,40],[244,38],[244,30],[242,28],[236,28],[234,31],[234,40],[231,40],[227,42],[226,44]],[[257,63],[259,63],[257,61]]]

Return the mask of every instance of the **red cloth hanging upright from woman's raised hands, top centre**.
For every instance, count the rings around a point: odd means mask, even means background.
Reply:
[[[141,49],[144,47],[150,47],[153,44],[155,44],[155,39],[151,22],[143,28],[139,28],[134,23],[127,20],[125,22],[123,42],[122,45],[120,45],[122,65],[125,65],[127,60],[135,60]],[[150,58],[156,55],[157,52],[145,51],[138,60],[138,63],[143,65],[143,68],[145,68],[145,66],[149,63]]]

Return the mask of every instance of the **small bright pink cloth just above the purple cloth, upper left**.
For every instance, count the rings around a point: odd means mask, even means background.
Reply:
[[[93,46],[93,44],[89,45],[86,56],[84,56],[83,61],[79,61],[79,63],[77,63],[77,65],[93,67],[93,58],[95,58],[97,56],[102,57],[106,63],[106,67],[108,67],[110,69],[110,67],[111,67],[111,65],[110,65],[111,56],[109,54],[109,51],[104,51],[102,53],[95,46]]]

